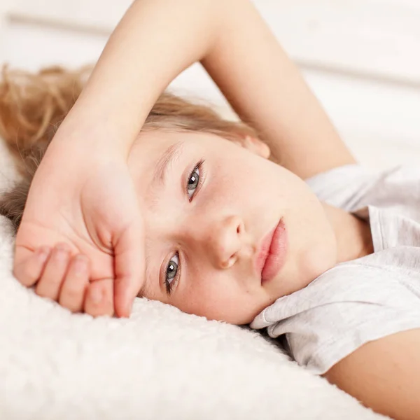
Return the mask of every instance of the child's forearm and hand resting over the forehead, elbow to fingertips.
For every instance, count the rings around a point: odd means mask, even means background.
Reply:
[[[22,284],[73,311],[130,315],[144,281],[144,223],[127,155],[155,99],[214,43],[221,5],[134,1],[31,182],[15,241],[13,273]],[[79,281],[56,260],[57,244],[67,246],[72,267],[79,254],[90,262]],[[40,245],[45,272],[34,268]]]

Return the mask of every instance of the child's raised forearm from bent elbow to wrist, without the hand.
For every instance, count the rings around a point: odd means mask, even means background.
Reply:
[[[134,1],[57,135],[76,141],[82,134],[94,147],[108,141],[130,150],[167,85],[213,47],[223,3]]]

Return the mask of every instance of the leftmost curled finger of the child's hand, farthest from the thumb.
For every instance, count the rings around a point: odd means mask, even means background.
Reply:
[[[49,246],[41,246],[25,260],[15,264],[13,276],[24,286],[34,286],[43,273],[45,262],[48,260],[50,253],[51,248]]]

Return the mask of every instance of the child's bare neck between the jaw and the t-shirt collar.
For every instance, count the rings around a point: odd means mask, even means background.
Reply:
[[[369,223],[343,209],[322,204],[337,239],[337,263],[373,253]]]

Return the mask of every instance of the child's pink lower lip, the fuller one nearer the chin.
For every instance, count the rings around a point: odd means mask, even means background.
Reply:
[[[283,267],[284,263],[286,262],[286,253],[287,232],[283,223],[283,219],[281,218],[279,224],[274,230],[274,235],[272,238],[272,243],[269,246],[267,259],[265,260],[264,267],[262,267],[262,283],[274,279],[274,277],[279,273],[281,267]]]

